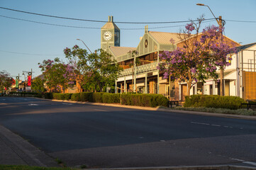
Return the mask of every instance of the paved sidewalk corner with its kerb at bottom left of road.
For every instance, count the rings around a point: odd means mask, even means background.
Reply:
[[[2,125],[0,125],[0,164],[59,166],[53,158]]]

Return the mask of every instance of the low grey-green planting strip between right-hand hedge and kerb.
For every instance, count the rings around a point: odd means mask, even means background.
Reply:
[[[165,108],[165,107],[160,107]],[[171,110],[179,110],[179,111],[200,111],[200,112],[208,112],[208,113],[223,113],[223,114],[232,114],[232,115],[256,115],[256,111],[247,110],[245,108],[240,108],[238,110],[231,110],[228,108],[184,108],[184,107],[176,107],[176,108],[167,108]]]

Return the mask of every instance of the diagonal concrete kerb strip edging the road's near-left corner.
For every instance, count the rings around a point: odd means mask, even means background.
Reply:
[[[29,166],[59,166],[52,157],[40,151],[40,149],[31,145],[19,135],[11,132],[11,130],[4,128],[2,125],[0,125],[0,135],[0,140]]]

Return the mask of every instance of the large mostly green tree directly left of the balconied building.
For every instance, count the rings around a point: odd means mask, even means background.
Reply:
[[[106,86],[113,86],[121,67],[111,59],[104,50],[88,54],[87,50],[74,45],[72,49],[66,47],[64,53],[74,72],[80,86],[85,90],[103,91]]]

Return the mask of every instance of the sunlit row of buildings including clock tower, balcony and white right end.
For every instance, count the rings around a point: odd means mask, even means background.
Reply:
[[[174,43],[170,40],[175,40]],[[255,50],[256,43],[240,46],[234,42],[238,54],[233,54],[231,65],[224,71],[225,96],[240,96],[245,99],[256,99]],[[182,45],[178,33],[164,33],[149,31],[145,26],[145,33],[140,38],[137,47],[120,47],[120,29],[113,22],[113,17],[108,17],[108,23],[101,28],[101,48],[110,53],[123,67],[116,81],[116,93],[137,91],[143,94],[162,94],[174,101],[184,101],[188,95],[185,82],[170,82],[164,79],[157,69],[160,62],[159,55],[163,51],[172,51]],[[139,63],[137,61],[140,61]],[[137,64],[133,64],[133,63]],[[218,71],[219,72],[219,71]],[[253,73],[251,73],[253,72]],[[249,83],[248,83],[249,82]],[[205,83],[194,82],[190,94],[220,94],[219,80],[208,79]],[[255,93],[254,96],[252,92]]]

